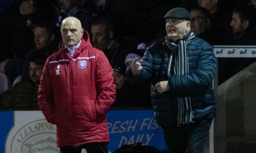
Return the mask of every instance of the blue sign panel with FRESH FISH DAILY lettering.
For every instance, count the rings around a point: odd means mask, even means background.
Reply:
[[[159,150],[166,148],[161,128],[156,124],[153,111],[109,111],[109,151],[123,144],[142,142]]]

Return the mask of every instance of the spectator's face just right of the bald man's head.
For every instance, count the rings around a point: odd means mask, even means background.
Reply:
[[[92,33],[92,46],[102,51],[107,50],[107,46],[109,46],[111,40],[107,35],[106,26],[102,24],[92,25],[91,28]]]

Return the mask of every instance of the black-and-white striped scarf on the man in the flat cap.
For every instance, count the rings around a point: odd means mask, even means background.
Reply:
[[[189,74],[187,45],[192,42],[194,37],[194,33],[191,31],[175,42],[173,42],[171,39],[168,39],[168,37],[166,36],[166,45],[172,51],[167,67],[168,78],[170,78],[172,71],[173,76]],[[178,126],[193,123],[193,110],[191,106],[190,96],[177,95],[177,105],[175,108],[178,107],[178,114],[176,114]]]

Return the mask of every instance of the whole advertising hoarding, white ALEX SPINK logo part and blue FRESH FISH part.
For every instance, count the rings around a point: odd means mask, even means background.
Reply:
[[[41,111],[0,111],[0,153],[50,151],[58,153],[56,126]],[[111,110],[107,113],[109,153],[123,144],[142,142],[165,150],[161,128],[152,110]]]

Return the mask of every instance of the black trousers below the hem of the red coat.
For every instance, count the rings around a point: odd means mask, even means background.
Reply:
[[[61,153],[81,153],[82,149],[86,149],[86,153],[108,153],[107,142],[95,142],[83,144],[81,146],[61,146]]]

